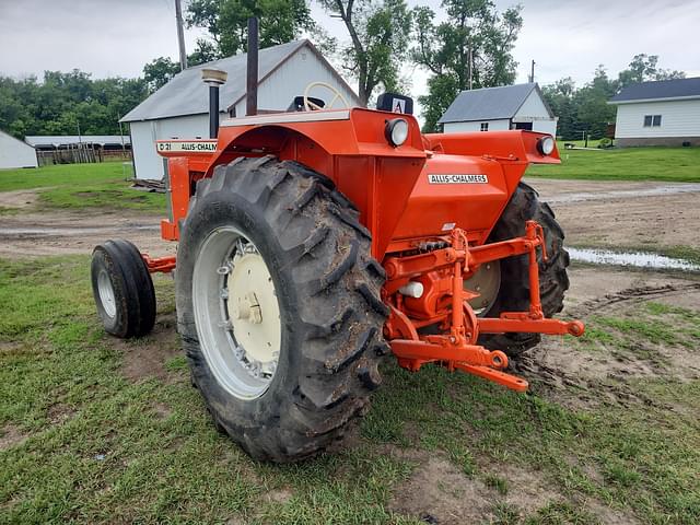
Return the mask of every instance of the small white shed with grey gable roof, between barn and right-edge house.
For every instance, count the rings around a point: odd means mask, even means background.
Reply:
[[[557,135],[557,117],[536,83],[463,91],[438,124],[445,133],[526,129]]]

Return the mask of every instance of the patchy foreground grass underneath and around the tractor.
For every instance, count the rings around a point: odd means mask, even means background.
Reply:
[[[642,400],[571,406],[537,384],[518,395],[387,360],[350,448],[264,465],[217,433],[189,385],[172,280],[156,280],[156,334],[122,342],[97,325],[88,273],[84,257],[0,260],[0,312],[12,312],[0,316],[2,523],[419,524],[401,504],[434,491],[506,525],[700,521],[698,380],[630,380]],[[590,319],[567,343],[639,357],[650,345],[698,348],[699,325],[700,311],[650,303]],[[168,355],[162,371],[135,377],[133,355],[149,352]],[[434,487],[406,492],[431,456],[443,465]],[[533,486],[547,498],[509,503]]]

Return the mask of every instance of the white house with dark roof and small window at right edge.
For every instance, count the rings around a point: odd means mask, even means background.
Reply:
[[[617,106],[617,145],[700,145],[700,77],[630,84]]]

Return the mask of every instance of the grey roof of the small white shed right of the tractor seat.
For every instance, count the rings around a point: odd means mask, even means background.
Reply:
[[[438,124],[512,118],[534,90],[541,97],[537,83],[463,91],[438,120]],[[545,101],[542,100],[542,102]],[[547,107],[546,103],[545,107]],[[547,110],[549,116],[553,118],[549,107]]]

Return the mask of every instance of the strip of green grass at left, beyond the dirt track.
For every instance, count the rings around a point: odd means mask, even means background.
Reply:
[[[0,171],[0,191],[39,188],[39,205],[46,208],[165,211],[165,195],[137,191],[130,185],[120,162]]]

